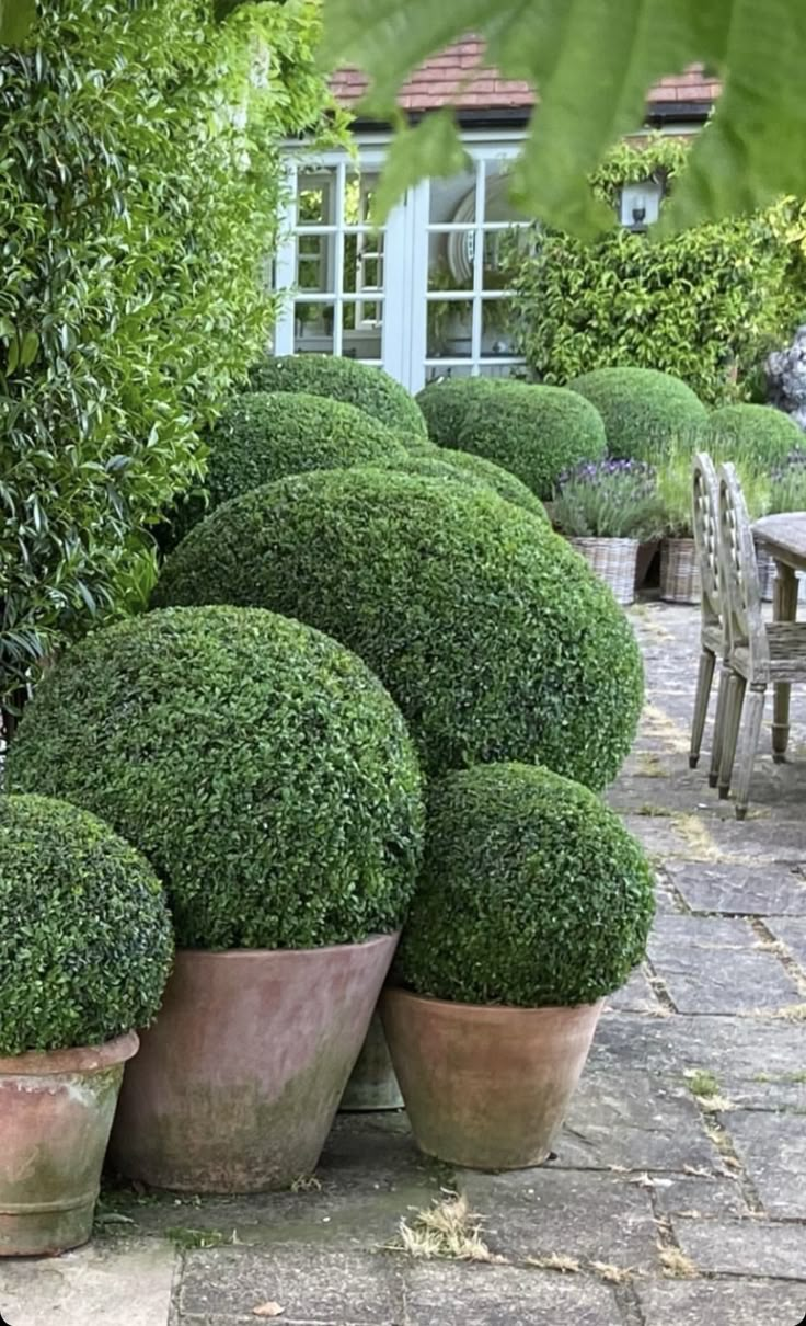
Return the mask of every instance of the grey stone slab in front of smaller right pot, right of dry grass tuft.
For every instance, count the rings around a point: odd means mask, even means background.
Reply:
[[[620,1176],[555,1168],[498,1175],[464,1170],[457,1181],[484,1217],[485,1241],[505,1257],[658,1266],[650,1193]]]

